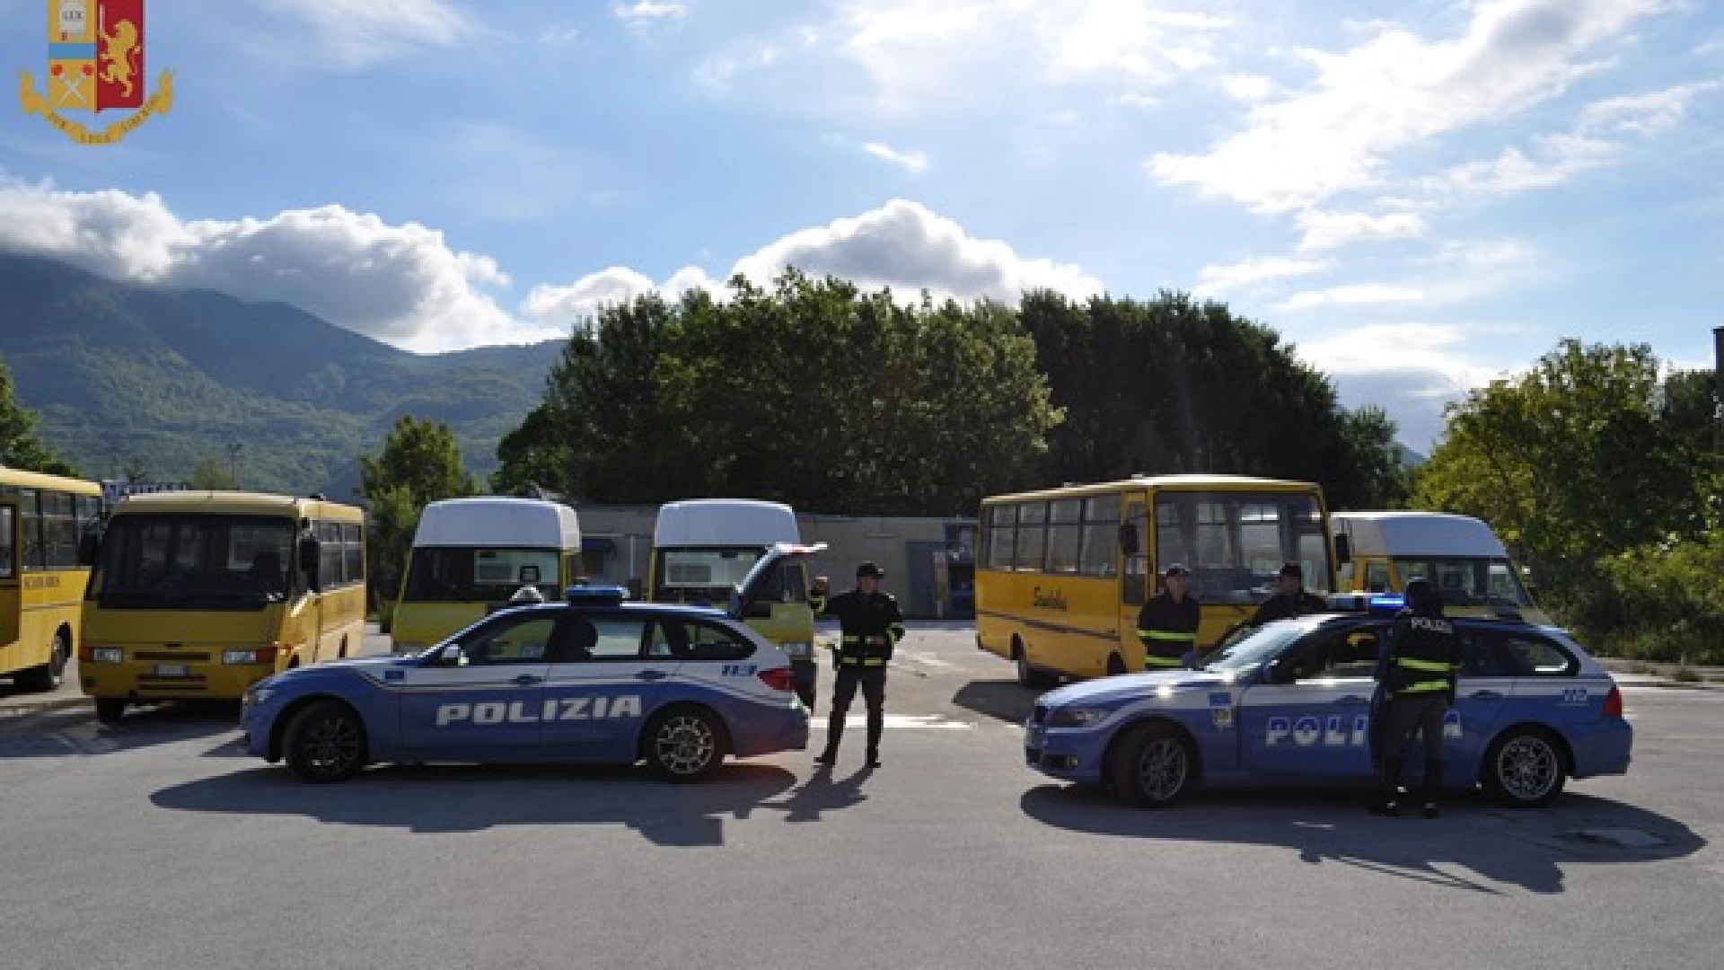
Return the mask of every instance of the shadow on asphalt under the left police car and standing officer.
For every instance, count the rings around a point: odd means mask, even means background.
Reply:
[[[659,846],[722,846],[724,820],[757,811],[819,822],[864,801],[867,772],[805,784],[776,765],[729,763],[696,785],[660,782],[643,768],[560,765],[384,765],[336,785],[302,782],[286,766],[259,766],[157,790],[174,811],[298,815],[333,825],[422,834],[505,825],[610,825]],[[776,799],[776,801],[774,801]]]

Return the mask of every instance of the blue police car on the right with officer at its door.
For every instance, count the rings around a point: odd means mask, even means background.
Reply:
[[[1024,723],[1031,768],[1164,808],[1198,784],[1369,782],[1377,649],[1400,597],[1336,595],[1334,613],[1279,620],[1226,642],[1202,670],[1072,683]],[[1633,728],[1610,675],[1565,632],[1452,618],[1464,646],[1443,721],[1445,787],[1483,785],[1536,808],[1565,778],[1627,772]],[[1409,744],[1409,782],[1424,768]]]

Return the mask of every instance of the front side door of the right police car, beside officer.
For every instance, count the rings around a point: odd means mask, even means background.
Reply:
[[[1319,630],[1265,668],[1240,699],[1248,772],[1369,777],[1377,628]]]

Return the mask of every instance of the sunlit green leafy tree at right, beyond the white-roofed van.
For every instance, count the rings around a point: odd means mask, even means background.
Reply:
[[[1705,526],[1702,459],[1660,416],[1645,343],[1564,340],[1526,375],[1450,406],[1415,504],[1474,514],[1565,594],[1600,557]]]

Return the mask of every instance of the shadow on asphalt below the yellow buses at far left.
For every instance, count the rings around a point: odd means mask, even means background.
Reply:
[[[71,708],[0,721],[0,761],[102,756],[224,734],[229,739],[207,751],[205,758],[238,758],[245,754],[238,732],[238,702],[183,701],[129,708],[116,725],[97,721],[91,708]]]

